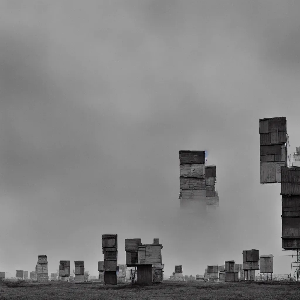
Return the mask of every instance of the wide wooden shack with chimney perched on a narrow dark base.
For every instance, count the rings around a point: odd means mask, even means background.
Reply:
[[[153,244],[142,244],[140,238],[125,238],[126,265],[137,267],[137,283],[152,284],[153,265],[163,268],[161,249],[163,246],[158,238],[153,240]]]

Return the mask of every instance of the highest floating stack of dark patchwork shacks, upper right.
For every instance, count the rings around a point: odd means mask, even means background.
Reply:
[[[281,182],[287,167],[286,117],[259,119],[260,183]]]

